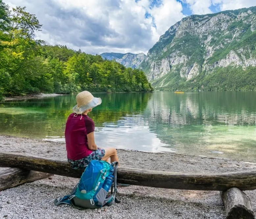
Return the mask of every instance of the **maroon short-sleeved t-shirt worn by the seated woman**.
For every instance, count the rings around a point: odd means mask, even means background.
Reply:
[[[67,158],[78,160],[93,152],[88,148],[87,134],[94,132],[94,122],[88,115],[71,113],[66,122],[65,141]]]

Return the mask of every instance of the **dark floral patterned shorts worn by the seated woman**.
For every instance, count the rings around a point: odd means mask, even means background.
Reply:
[[[73,169],[84,169],[88,166],[91,160],[101,160],[105,155],[105,150],[103,148],[98,148],[96,151],[91,152],[85,158],[79,160],[71,160],[67,159],[67,161],[71,164],[71,168]]]

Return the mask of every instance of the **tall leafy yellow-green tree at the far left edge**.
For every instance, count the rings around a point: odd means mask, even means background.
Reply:
[[[1,6],[3,9],[4,5]],[[38,43],[33,38],[35,31],[39,30],[41,25],[34,14],[25,11],[25,7],[13,8],[11,14],[8,12],[5,14],[8,15],[6,23],[9,26],[5,26],[5,31],[1,31],[2,35],[5,35],[4,40],[1,40],[1,76],[4,78],[4,92],[19,94],[27,90],[27,83],[33,78],[34,72],[29,68],[33,66],[32,63],[35,63],[33,59],[40,52]]]

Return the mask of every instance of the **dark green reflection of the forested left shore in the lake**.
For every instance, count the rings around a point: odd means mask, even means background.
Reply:
[[[105,122],[116,123],[126,115],[141,114],[152,93],[94,95],[103,101],[90,117],[96,127],[103,127]],[[75,104],[74,95],[0,103],[0,133],[35,138],[63,136],[66,119]]]

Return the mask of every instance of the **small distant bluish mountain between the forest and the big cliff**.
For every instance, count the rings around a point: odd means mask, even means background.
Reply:
[[[103,59],[115,60],[127,68],[137,68],[141,64],[141,62],[146,58],[146,55],[144,53],[102,53],[100,54],[100,56]]]

